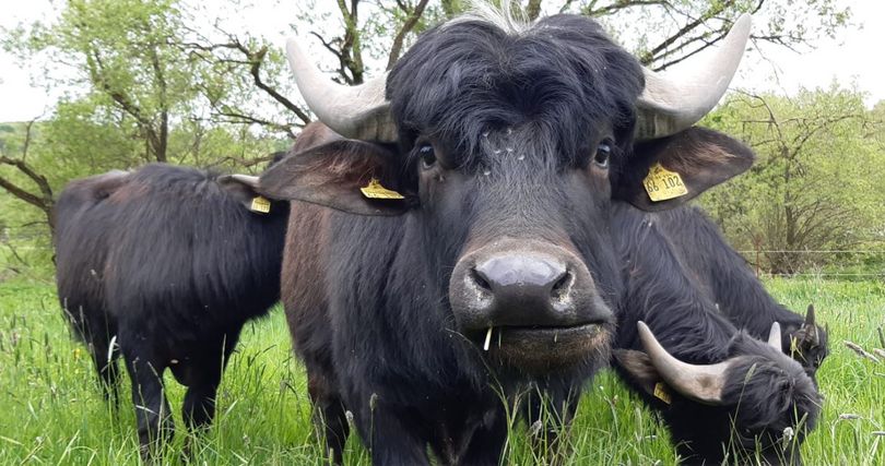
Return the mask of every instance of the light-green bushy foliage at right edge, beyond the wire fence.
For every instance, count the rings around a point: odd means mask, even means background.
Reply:
[[[739,93],[706,123],[750,144],[750,171],[712,191],[704,205],[739,249],[876,248],[885,231],[882,120],[854,91],[802,91],[794,97]],[[826,264],[838,255],[768,252],[775,273]]]

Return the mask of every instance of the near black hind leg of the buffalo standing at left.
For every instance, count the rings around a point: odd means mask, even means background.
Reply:
[[[165,367],[149,358],[125,351],[126,368],[132,380],[132,403],[142,457],[151,459],[158,446],[170,440],[175,427],[163,387]]]

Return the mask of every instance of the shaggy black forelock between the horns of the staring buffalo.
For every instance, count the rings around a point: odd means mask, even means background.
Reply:
[[[551,16],[517,34],[468,17],[422,36],[387,97],[406,145],[428,134],[475,157],[483,133],[533,124],[570,158],[610,126],[628,142],[642,86],[638,61],[590,19]]]

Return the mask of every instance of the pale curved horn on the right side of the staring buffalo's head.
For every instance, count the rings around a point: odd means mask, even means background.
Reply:
[[[691,75],[673,76],[645,69],[646,88],[637,103],[636,138],[651,140],[675,134],[700,121],[731,83],[750,38],[751,15],[744,13],[715,53],[696,61]]]

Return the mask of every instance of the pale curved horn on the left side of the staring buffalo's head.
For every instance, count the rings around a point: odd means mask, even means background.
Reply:
[[[345,86],[322,74],[295,39],[286,41],[286,56],[304,100],[327,127],[350,139],[397,141],[397,127],[385,98],[387,73],[358,86]]]

